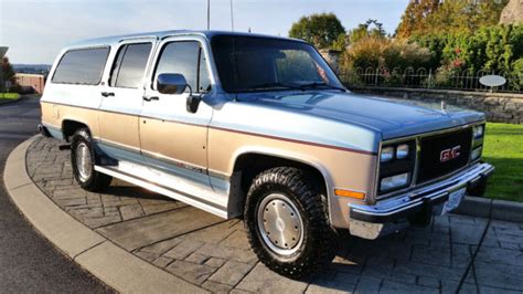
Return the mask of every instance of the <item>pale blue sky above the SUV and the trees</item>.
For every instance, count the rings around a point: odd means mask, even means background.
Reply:
[[[231,30],[231,0],[211,0],[211,29]],[[51,64],[83,39],[206,29],[206,0],[0,0],[0,46],[11,63]],[[233,0],[234,29],[287,36],[302,15],[334,12],[346,30],[377,19],[393,33],[408,0]]]

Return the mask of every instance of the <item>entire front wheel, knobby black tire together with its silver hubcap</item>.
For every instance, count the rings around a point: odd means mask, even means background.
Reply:
[[[279,167],[259,174],[247,195],[245,224],[258,259],[292,279],[329,264],[335,254],[327,198],[303,170]]]

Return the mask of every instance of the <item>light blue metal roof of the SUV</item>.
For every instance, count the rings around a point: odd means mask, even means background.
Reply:
[[[174,35],[203,35],[206,39],[211,40],[214,35],[222,35],[222,34],[246,35],[246,36],[248,35],[248,36],[258,36],[258,38],[276,38],[276,39],[282,39],[282,40],[295,40],[295,41],[303,42],[302,40],[298,40],[298,39],[290,39],[290,38],[268,35],[268,34],[258,34],[258,33],[230,32],[230,31],[171,30],[171,31],[145,32],[145,33],[122,34],[122,35],[113,35],[113,36],[83,40],[83,41],[74,42],[67,45],[67,48],[113,45],[120,41],[130,40],[130,39],[141,39],[141,38],[163,39],[163,38],[174,36]]]

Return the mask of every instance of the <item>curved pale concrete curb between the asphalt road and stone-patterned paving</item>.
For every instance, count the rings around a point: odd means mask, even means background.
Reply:
[[[12,201],[51,243],[118,292],[205,292],[117,246],[54,204],[25,168],[25,153],[35,137],[9,155],[3,179]]]

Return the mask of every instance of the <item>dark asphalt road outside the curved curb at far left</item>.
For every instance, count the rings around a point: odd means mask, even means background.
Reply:
[[[0,106],[0,292],[107,292],[107,288],[39,235],[3,187],[9,153],[35,134],[36,98]]]

